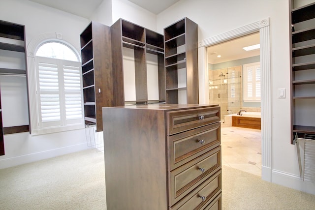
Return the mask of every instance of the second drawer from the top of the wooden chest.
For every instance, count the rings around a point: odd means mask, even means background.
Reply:
[[[169,171],[221,144],[221,123],[199,127],[167,137]]]

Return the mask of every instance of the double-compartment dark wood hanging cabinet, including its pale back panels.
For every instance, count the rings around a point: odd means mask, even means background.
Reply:
[[[115,105],[165,102],[163,35],[119,19],[111,26],[111,36]],[[152,55],[154,72],[149,71]],[[150,76],[157,81],[155,87]]]

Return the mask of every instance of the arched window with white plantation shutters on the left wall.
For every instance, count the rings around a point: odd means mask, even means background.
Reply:
[[[41,44],[34,54],[37,122],[32,133],[83,126],[81,62],[75,51],[62,42],[49,41]]]

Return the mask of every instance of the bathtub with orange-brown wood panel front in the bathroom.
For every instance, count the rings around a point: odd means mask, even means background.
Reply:
[[[260,112],[242,112],[241,115],[230,114],[224,116],[224,125],[223,127],[236,126],[236,127],[245,127],[260,129],[261,113]]]

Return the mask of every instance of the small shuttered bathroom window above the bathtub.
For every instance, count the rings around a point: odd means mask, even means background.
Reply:
[[[260,62],[243,65],[243,100],[260,102]]]

